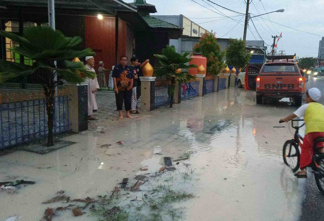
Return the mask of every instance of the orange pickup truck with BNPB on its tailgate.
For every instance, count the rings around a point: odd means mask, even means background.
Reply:
[[[294,60],[295,56],[267,56],[256,78],[256,102],[267,98],[291,98],[296,106],[302,104],[305,88],[303,73]]]

